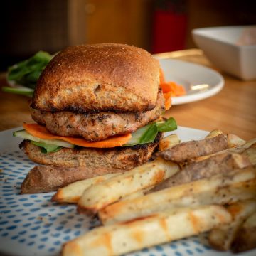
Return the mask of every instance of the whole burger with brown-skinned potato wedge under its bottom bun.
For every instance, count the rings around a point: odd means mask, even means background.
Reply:
[[[70,46],[50,60],[31,101],[35,124],[14,132],[33,168],[21,193],[52,191],[148,161],[162,132],[166,99],[159,61],[117,43]]]

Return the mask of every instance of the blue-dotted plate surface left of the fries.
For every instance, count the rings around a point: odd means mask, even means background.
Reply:
[[[100,225],[74,205],[51,202],[53,193],[20,195],[34,165],[22,151],[0,154],[0,254],[58,255],[64,242]]]

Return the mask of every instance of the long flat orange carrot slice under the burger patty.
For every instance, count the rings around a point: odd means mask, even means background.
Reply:
[[[100,142],[88,142],[83,138],[64,137],[64,136],[50,134],[50,132],[48,132],[46,127],[43,127],[40,124],[24,123],[23,127],[24,129],[26,129],[26,131],[29,134],[41,139],[62,139],[65,142],[70,142],[71,144],[74,144],[77,146],[84,146],[84,147],[112,148],[115,146],[122,146],[126,144],[129,141],[129,139],[132,138],[132,134],[127,133],[127,134],[110,137],[108,139],[103,139]]]

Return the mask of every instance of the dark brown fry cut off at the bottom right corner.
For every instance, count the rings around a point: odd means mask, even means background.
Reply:
[[[256,212],[243,223],[233,241],[231,250],[235,253],[256,248]]]

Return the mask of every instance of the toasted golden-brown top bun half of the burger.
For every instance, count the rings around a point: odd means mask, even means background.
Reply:
[[[159,61],[117,43],[70,46],[41,74],[32,107],[43,111],[138,112],[156,105]]]

